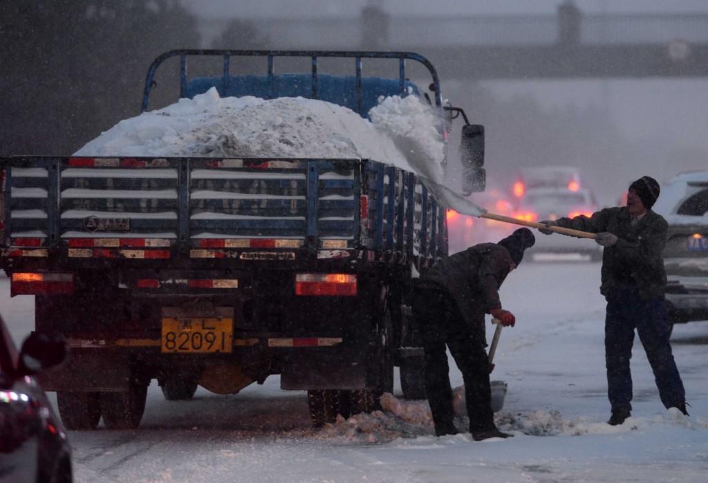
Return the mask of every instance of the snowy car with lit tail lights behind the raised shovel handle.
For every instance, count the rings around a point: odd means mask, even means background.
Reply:
[[[588,189],[571,191],[566,188],[532,188],[519,200],[513,216],[527,222],[541,222],[581,215],[590,217],[598,210],[595,195]],[[595,243],[594,239],[569,237],[559,233],[539,234],[529,254],[581,254],[590,256],[591,261],[600,261],[603,258],[603,247]]]

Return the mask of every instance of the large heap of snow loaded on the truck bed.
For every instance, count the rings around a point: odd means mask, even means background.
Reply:
[[[394,96],[370,116],[306,98],[221,98],[212,88],[122,120],[75,155],[367,158],[442,180],[443,141],[429,106]]]

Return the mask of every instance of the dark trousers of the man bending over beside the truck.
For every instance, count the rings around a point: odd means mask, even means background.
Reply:
[[[457,304],[443,290],[416,288],[413,314],[426,354],[426,390],[436,429],[452,426],[452,388],[445,346],[450,348],[464,380],[469,431],[494,427],[489,386],[489,358],[485,350],[484,320],[470,327]]]

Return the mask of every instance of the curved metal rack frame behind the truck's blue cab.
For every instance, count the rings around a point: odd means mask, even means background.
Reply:
[[[201,50],[201,49],[180,49],[170,50],[156,57],[147,71],[145,79],[145,88],[140,106],[141,112],[145,112],[149,105],[150,93],[156,85],[154,81],[155,72],[160,65],[171,57],[179,57],[179,79],[180,79],[180,97],[185,97],[185,89],[187,86],[187,58],[190,56],[201,57],[222,57],[222,82],[224,85],[229,83],[231,79],[230,65],[231,57],[266,57],[268,62],[267,77],[270,91],[272,92],[275,86],[275,59],[277,57],[309,57],[311,60],[311,89],[309,97],[312,99],[319,98],[318,92],[318,62],[319,57],[339,57],[354,59],[355,72],[355,95],[357,98],[356,111],[362,113],[362,59],[397,59],[399,62],[399,91],[406,92],[406,60],[411,60],[422,64],[432,78],[432,84],[435,92],[435,106],[438,109],[440,118],[442,118],[442,97],[440,95],[440,79],[438,72],[433,67],[426,57],[414,52],[370,52],[370,51],[336,51],[336,50]]]

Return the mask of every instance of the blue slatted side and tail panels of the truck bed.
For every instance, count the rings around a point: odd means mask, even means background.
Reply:
[[[366,249],[411,259],[445,246],[444,210],[426,187],[377,161],[9,157],[0,169],[0,245],[13,254]]]

